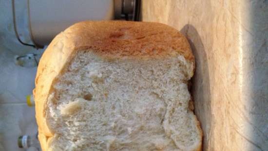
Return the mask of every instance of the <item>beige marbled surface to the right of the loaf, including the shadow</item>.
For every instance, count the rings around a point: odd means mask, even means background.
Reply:
[[[268,0],[142,0],[142,20],[184,33],[204,151],[268,151]]]

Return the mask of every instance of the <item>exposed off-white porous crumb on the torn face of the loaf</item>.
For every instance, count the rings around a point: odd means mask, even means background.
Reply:
[[[109,60],[77,51],[46,103],[49,150],[196,151],[202,134],[189,109],[189,66],[180,55]]]

